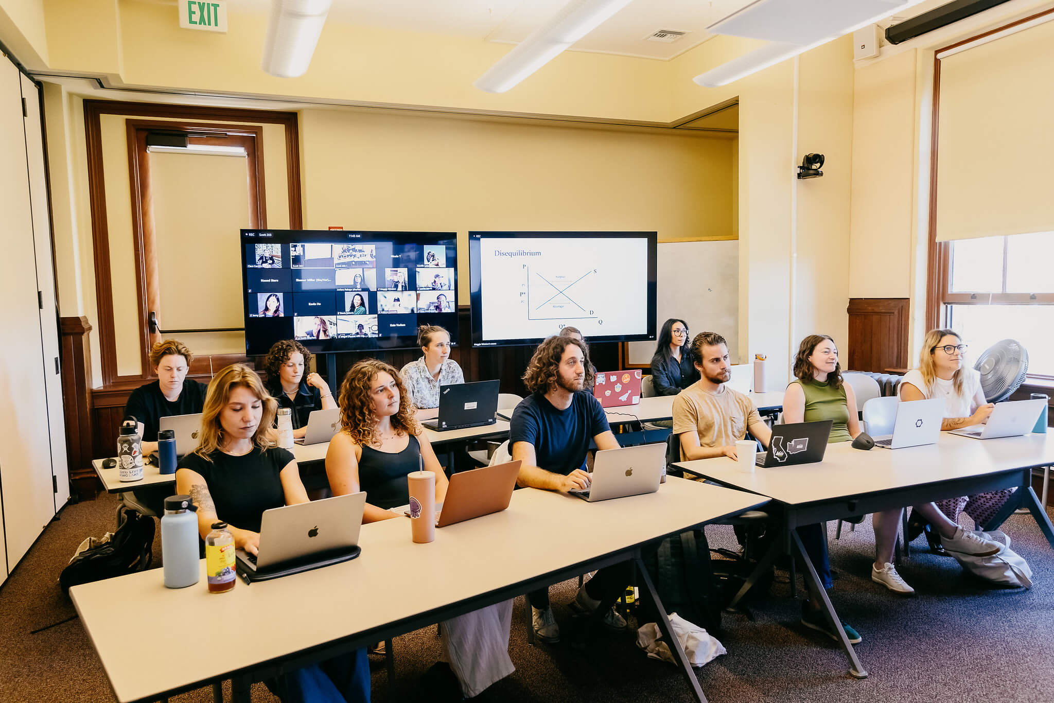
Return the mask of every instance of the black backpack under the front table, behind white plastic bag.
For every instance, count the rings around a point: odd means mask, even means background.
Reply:
[[[644,564],[667,616],[676,612],[711,634],[721,631],[722,604],[709,543],[702,530],[666,538],[657,548],[645,552]],[[650,603],[644,607],[650,609]],[[655,620],[655,612],[645,611],[643,622]]]

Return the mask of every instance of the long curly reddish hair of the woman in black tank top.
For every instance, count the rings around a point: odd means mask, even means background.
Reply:
[[[403,383],[403,376],[395,367],[375,358],[364,358],[355,363],[344,380],[340,382],[340,431],[351,437],[355,444],[380,444],[377,436],[377,414],[373,410],[373,398],[370,396],[370,386],[380,372],[385,372],[395,380],[398,388],[398,412],[392,415],[392,428],[396,432],[406,432],[414,436],[421,434],[421,425],[414,416],[414,406],[410,394]]]

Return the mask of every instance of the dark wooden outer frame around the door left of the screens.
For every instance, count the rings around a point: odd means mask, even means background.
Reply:
[[[289,227],[302,227],[302,198],[300,192],[299,125],[295,112],[206,108],[199,105],[169,105],[149,102],[120,102],[114,100],[84,100],[84,138],[87,151],[89,203],[92,216],[92,241],[95,266],[96,316],[99,330],[99,356],[102,366],[103,388],[135,387],[150,373],[149,362],[138,375],[120,376],[117,373],[117,350],[114,321],[113,286],[111,281],[110,232],[106,222],[106,190],[102,171],[102,115],[123,115],[132,118],[168,118],[169,120],[213,120],[237,123],[279,124],[285,128],[286,171],[289,196]],[[172,126],[173,122],[168,122]],[[215,125],[211,125],[215,126]],[[259,142],[257,142],[259,143]],[[131,150],[130,150],[131,158]],[[133,192],[136,191],[133,184]],[[133,197],[135,197],[133,195]],[[133,217],[136,217],[133,208]],[[141,211],[140,211],[141,216]],[[137,271],[137,277],[143,272]],[[140,292],[142,289],[139,289]],[[142,300],[137,306],[142,309]],[[145,313],[140,312],[139,329],[145,329]],[[142,350],[145,358],[145,348]]]

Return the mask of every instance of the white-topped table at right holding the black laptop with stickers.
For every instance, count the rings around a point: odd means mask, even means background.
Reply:
[[[770,508],[781,512],[785,540],[773,547],[733,600],[738,603],[780,553],[797,553],[805,566],[805,578],[820,592],[832,626],[841,633],[841,645],[850,661],[850,672],[867,672],[845,638],[840,621],[802,547],[795,527],[828,520],[891,510],[930,501],[1016,487],[1017,490],[984,529],[995,529],[1019,506],[1027,507],[1054,548],[1054,526],[1032,490],[1032,469],[1054,464],[1054,437],[1027,434],[1000,440],[971,440],[941,432],[937,444],[904,449],[853,449],[848,442],[827,445],[823,461],[799,466],[756,468],[740,471],[738,464],[722,456],[675,466],[687,473],[730,488],[773,499]],[[792,584],[794,560],[792,560]]]

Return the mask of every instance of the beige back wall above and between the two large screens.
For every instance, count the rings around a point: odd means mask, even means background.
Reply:
[[[734,236],[727,138],[333,110],[300,131],[305,227],[457,232],[460,304],[470,230]]]

